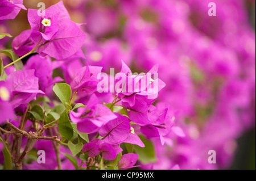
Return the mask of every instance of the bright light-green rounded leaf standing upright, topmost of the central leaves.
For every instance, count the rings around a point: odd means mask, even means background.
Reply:
[[[53,91],[63,105],[67,107],[67,104],[69,104],[69,100],[71,99],[71,87],[67,83],[56,83],[55,86],[53,86]]]

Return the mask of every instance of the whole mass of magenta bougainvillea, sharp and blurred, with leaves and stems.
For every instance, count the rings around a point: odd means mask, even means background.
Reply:
[[[228,168],[255,126],[255,2],[209,2],[1,0],[0,168]]]

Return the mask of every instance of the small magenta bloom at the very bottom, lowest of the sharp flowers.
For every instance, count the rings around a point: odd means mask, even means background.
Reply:
[[[139,166],[134,166],[135,163],[137,162],[139,155],[135,153],[127,153],[122,155],[121,159],[118,162],[118,168],[120,170],[124,169],[131,169],[133,167],[139,167]]]

